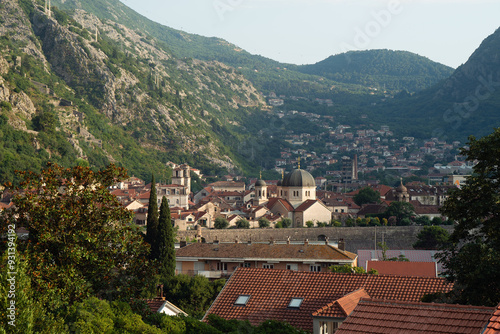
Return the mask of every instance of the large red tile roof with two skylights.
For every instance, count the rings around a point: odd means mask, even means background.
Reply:
[[[217,314],[254,325],[274,319],[311,332],[313,312],[361,288],[374,298],[419,301],[452,287],[444,278],[238,268],[205,317]],[[246,306],[234,305],[239,295],[250,295]],[[304,298],[300,308],[288,308],[293,297]]]

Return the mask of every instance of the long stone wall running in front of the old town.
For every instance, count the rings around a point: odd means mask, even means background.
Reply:
[[[448,232],[453,231],[452,226],[444,226]],[[413,249],[412,245],[417,240],[417,235],[422,226],[379,226],[379,227],[322,227],[322,228],[283,228],[283,229],[230,229],[210,230],[202,229],[201,237],[205,242],[262,242],[273,238],[275,241],[324,240],[328,237],[332,243],[344,239],[347,251],[357,252],[358,249],[374,249],[375,244],[383,240],[389,249]],[[192,240],[196,238],[197,231],[177,231],[178,240]],[[379,248],[379,247],[377,247]]]

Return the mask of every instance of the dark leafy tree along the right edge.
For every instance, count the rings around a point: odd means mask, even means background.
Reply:
[[[498,304],[500,300],[500,129],[469,137],[461,150],[477,165],[460,189],[449,193],[441,213],[455,222],[442,252],[444,274],[453,281],[455,302]]]

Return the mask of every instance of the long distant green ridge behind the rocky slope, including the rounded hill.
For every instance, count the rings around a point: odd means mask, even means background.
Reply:
[[[452,73],[451,68],[427,58],[410,52],[388,50],[349,52],[315,65],[284,64],[250,54],[221,38],[204,37],[163,26],[118,0],[53,0],[52,3],[64,10],[85,10],[100,19],[120,22],[129,29],[143,31],[163,43],[176,57],[217,60],[235,67],[264,93],[327,98],[325,94],[330,93],[331,86],[343,92],[359,92],[362,90],[360,85],[365,88],[383,88],[386,85],[390,90],[412,92],[430,87]],[[346,59],[349,59],[347,66],[343,64]]]

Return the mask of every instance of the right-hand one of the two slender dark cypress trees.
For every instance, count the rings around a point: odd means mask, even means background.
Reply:
[[[165,278],[173,277],[175,275],[174,228],[170,219],[170,207],[165,196],[161,200],[158,235],[160,275]]]

